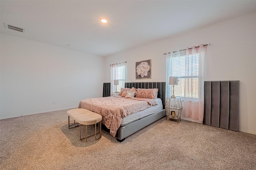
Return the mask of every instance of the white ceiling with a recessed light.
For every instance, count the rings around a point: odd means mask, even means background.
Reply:
[[[2,33],[107,57],[255,12],[256,0],[1,0],[0,8]],[[100,23],[102,17],[107,24]],[[25,33],[6,29],[5,23]]]

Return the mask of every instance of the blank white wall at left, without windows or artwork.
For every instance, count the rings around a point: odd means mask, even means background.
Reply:
[[[103,57],[3,33],[0,54],[0,119],[78,107],[82,99],[102,97]]]

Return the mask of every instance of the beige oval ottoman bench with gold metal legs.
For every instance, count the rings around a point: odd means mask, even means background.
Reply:
[[[101,115],[94,113],[87,109],[71,109],[71,110],[67,111],[67,114],[68,114],[68,129],[70,129],[70,126],[77,124],[77,123],[75,123],[75,121],[77,121],[80,124],[80,141],[81,142],[90,143],[90,142],[94,142],[94,141],[100,139],[100,137],[101,137],[101,120],[102,120]],[[69,117],[74,119],[74,124],[70,125]],[[96,132],[97,123],[98,123],[98,127],[99,127],[98,132]],[[81,139],[81,125],[86,126],[86,129],[85,129],[86,137],[83,139]],[[87,135],[87,125],[95,125],[95,134]],[[100,137],[96,138],[97,134],[100,134]],[[92,137],[94,135],[95,135],[95,140],[87,142],[87,138]],[[84,139],[85,139],[85,141],[82,141]]]

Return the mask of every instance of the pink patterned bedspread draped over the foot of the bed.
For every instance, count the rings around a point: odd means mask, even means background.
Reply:
[[[132,100],[130,98],[120,97],[104,97],[104,98],[90,98],[84,99],[79,103],[78,108],[88,109],[95,113],[102,115],[102,123],[110,129],[110,134],[116,136],[116,131],[122,123],[122,119],[152,106],[148,104],[147,99]],[[156,103],[156,102],[155,102]],[[154,105],[154,104],[153,104]]]

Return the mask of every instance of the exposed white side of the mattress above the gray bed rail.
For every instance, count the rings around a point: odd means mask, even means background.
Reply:
[[[143,117],[146,117],[148,115],[151,115],[153,113],[156,113],[158,111],[161,111],[163,109],[162,100],[160,98],[156,99],[157,105],[149,107],[147,109],[144,109],[142,111],[138,111],[136,113],[130,114],[122,120],[122,123],[120,127],[123,127],[125,125],[128,125],[134,121],[137,121],[138,119],[142,119]]]

